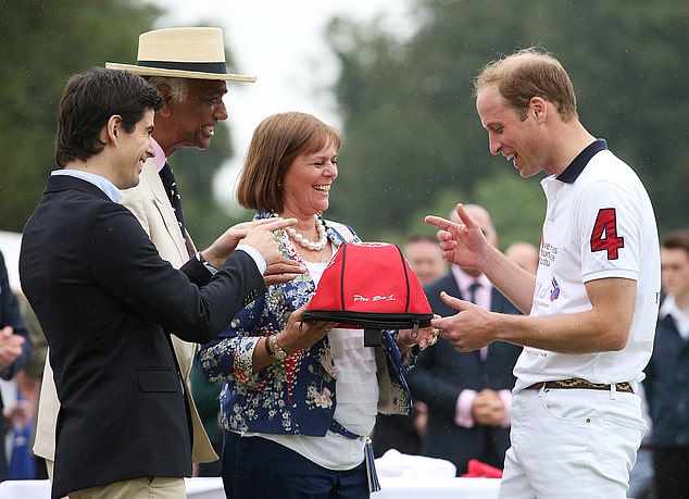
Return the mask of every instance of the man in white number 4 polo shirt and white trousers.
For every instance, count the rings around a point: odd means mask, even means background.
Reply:
[[[511,448],[501,498],[625,498],[646,424],[636,395],[653,348],[660,254],[637,175],[578,120],[560,62],[535,49],[489,63],[476,108],[490,152],[523,177],[549,174],[537,276],[461,223],[429,216],[443,257],[475,266],[528,316],[443,295],[460,313],[434,327],[458,350],[524,346],[514,373]]]

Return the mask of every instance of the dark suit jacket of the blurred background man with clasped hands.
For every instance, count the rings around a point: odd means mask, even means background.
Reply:
[[[462,298],[452,272],[427,285],[424,290],[434,313],[441,316],[456,313],[440,300],[440,291]],[[492,290],[491,310],[518,313],[496,288]],[[456,400],[464,389],[512,389],[515,383],[512,370],[521,352],[522,347],[494,341],[488,347],[488,357],[483,361],[478,350],[458,352],[449,341],[439,338],[436,346],[418,354],[408,383],[412,396],[428,404],[428,423],[422,444],[424,456],[451,461],[458,467],[458,474],[466,473],[469,459],[502,469],[504,452],[510,447],[509,428],[458,426],[454,423]]]

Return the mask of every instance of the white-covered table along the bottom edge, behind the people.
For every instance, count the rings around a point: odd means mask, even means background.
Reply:
[[[221,478],[186,478],[189,499],[225,499]],[[371,499],[496,499],[494,478],[380,478],[383,490]],[[46,481],[0,483],[0,499],[50,499]]]

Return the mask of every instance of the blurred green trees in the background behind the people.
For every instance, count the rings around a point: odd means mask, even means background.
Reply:
[[[488,61],[540,45],[569,72],[584,125],[644,182],[661,234],[689,225],[689,2],[406,1],[410,33],[344,17],[327,28],[340,64],[328,90],[344,137],[328,217],[365,239],[402,242],[434,232],[425,214],[476,202],[491,211],[501,246],[538,244],[540,186],[489,154],[472,92]],[[133,62],[138,35],[162,12],[129,0],[0,0],[0,229],[21,232],[54,167],[66,78],[104,61]],[[220,129],[208,151],[172,160],[199,246],[238,221],[212,196],[213,172],[234,154],[227,137]]]

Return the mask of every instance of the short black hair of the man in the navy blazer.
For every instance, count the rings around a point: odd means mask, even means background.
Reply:
[[[88,160],[105,147],[100,133],[117,114],[131,133],[147,110],[162,105],[158,90],[143,78],[120,70],[97,67],[70,78],[58,109],[55,161]]]

